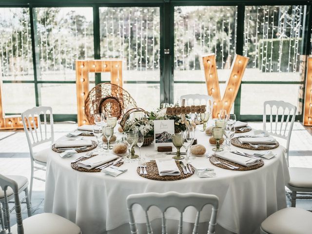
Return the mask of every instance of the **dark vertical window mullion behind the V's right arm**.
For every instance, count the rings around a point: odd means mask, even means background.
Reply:
[[[237,5],[237,37],[236,37],[236,54],[243,55],[243,47],[244,47],[244,17],[245,17],[245,4]],[[241,101],[241,88],[240,84],[237,96],[234,101],[234,114],[237,119],[240,119],[240,101]]]

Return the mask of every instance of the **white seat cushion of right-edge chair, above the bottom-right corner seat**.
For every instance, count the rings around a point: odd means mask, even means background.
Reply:
[[[312,188],[312,168],[290,167],[289,185],[297,188]]]

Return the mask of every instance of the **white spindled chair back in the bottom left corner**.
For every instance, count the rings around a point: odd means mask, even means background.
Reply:
[[[13,179],[10,179],[6,176],[3,176],[0,174],[0,188],[4,191],[4,216],[6,220],[10,220],[10,208],[9,208],[9,201],[7,197],[7,189],[8,187],[11,187],[14,192],[14,200],[15,200],[15,212],[16,212],[16,221],[18,226],[18,234],[24,234],[23,229],[23,222],[21,217],[21,208],[20,208],[20,197],[19,197],[19,186],[16,181]],[[2,215],[2,212],[0,212],[0,215]],[[3,217],[1,217],[1,220],[4,220]],[[9,224],[10,222],[8,222]],[[5,234],[4,225],[1,224],[2,231],[1,234]],[[11,233],[11,227],[8,225],[8,232]]]

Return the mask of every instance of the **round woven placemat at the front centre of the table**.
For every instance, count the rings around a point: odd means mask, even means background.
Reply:
[[[177,168],[181,172],[180,176],[159,176],[158,168],[157,168],[155,160],[152,160],[152,161],[146,163],[147,175],[143,175],[143,174],[140,175],[140,168],[139,167],[137,167],[137,174],[139,176],[142,176],[142,177],[147,178],[147,179],[171,181],[171,180],[180,180],[180,179],[188,178],[188,177],[192,176],[195,172],[195,169],[191,164],[190,164],[191,169],[192,169],[191,174],[184,174],[183,173],[183,169],[180,167],[180,161],[176,161],[176,165],[177,165]]]

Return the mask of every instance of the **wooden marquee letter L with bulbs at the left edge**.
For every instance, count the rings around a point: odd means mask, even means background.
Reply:
[[[12,116],[5,116],[5,111],[2,106],[2,74],[1,74],[1,64],[0,64],[0,130],[4,129],[23,129],[23,123],[21,121],[20,115],[12,115]],[[30,118],[30,121],[32,119]],[[34,119],[36,126],[38,126],[38,118],[35,117]],[[33,126],[33,123],[32,123]]]

